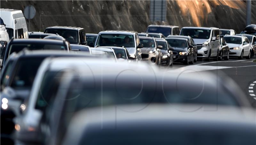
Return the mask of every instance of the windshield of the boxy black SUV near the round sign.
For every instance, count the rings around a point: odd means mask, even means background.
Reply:
[[[45,33],[59,34],[70,43],[78,43],[78,31],[66,29],[47,29]]]

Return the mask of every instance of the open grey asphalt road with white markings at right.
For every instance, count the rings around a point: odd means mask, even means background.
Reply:
[[[247,95],[248,100],[254,108],[256,108],[256,58],[251,60],[239,60],[230,58],[228,61],[210,61],[198,60],[193,65],[184,65],[174,63],[174,71],[206,71],[216,75],[224,72],[232,78]]]

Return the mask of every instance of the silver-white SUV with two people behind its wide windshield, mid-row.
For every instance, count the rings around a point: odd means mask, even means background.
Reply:
[[[98,34],[94,47],[99,46],[124,46],[128,50],[131,59],[141,61],[140,48],[142,48],[143,45],[140,44],[140,39],[137,32],[116,30],[101,31]]]

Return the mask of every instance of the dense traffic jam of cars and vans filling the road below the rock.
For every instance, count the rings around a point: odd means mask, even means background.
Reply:
[[[0,16],[1,144],[256,144],[255,24],[28,32],[21,10]]]

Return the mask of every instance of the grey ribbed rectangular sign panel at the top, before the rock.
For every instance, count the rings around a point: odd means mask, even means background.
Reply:
[[[151,0],[150,1],[150,21],[165,21],[166,20],[166,1]]]

